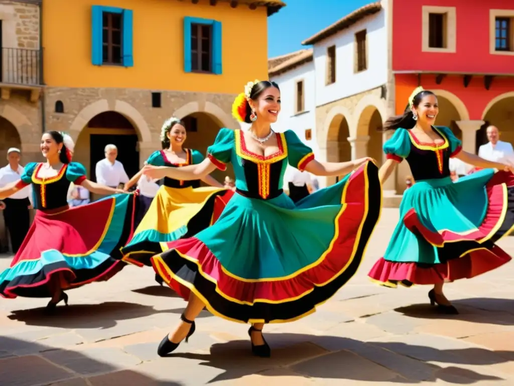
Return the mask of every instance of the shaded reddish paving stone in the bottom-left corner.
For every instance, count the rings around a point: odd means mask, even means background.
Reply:
[[[34,355],[0,360],[0,380],[6,386],[49,384],[73,377],[75,375]]]

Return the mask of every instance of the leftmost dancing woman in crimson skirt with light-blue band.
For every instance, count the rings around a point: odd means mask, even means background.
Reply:
[[[125,265],[117,254],[132,232],[134,195],[69,208],[71,182],[97,194],[122,192],[87,180],[84,167],[71,162],[72,148],[68,135],[46,132],[41,138],[46,163],[27,164],[21,180],[0,189],[5,198],[32,184],[37,209],[22,247],[0,274],[4,297],[51,297],[47,309],[53,310],[62,300],[68,303],[65,289],[107,280]]]

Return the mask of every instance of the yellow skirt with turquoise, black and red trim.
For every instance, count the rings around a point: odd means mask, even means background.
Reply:
[[[231,190],[213,187],[161,186],[134,237],[121,249],[123,260],[139,267],[151,266],[150,258],[163,251],[161,243],[206,229],[221,215],[232,195]]]

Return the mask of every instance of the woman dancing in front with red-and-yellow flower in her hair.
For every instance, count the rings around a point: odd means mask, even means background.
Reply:
[[[161,356],[193,334],[195,318],[207,307],[227,320],[251,323],[252,352],[268,357],[264,324],[313,313],[360,265],[380,214],[377,167],[369,158],[314,160],[293,131],[271,130],[279,112],[278,85],[250,82],[233,107],[238,120],[252,124],[249,131],[221,129],[199,165],[144,167],[152,178],[194,180],[232,162],[236,178],[237,194],[216,223],[168,243],[168,251],[152,257],[156,272],[189,299],[181,323],[159,345]],[[295,205],[282,191],[287,163],[317,176],[340,176],[360,167]]]

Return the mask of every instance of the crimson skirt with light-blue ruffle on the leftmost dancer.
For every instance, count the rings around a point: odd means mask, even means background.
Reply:
[[[125,266],[120,248],[132,236],[135,199],[121,194],[59,212],[38,210],[10,268],[0,273],[0,295],[50,297],[47,283],[57,274],[63,289],[114,276]]]

